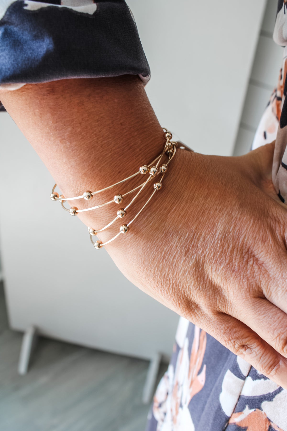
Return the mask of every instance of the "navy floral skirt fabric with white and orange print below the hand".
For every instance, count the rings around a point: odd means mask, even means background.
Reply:
[[[146,431],[287,431],[287,390],[180,318]]]

